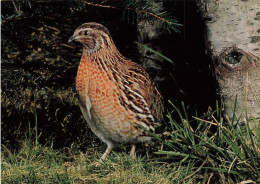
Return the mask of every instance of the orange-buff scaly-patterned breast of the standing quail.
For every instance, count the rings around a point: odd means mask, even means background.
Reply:
[[[76,79],[81,103],[91,105],[104,123],[113,122],[113,126],[118,126],[117,124],[125,121],[134,121],[134,117],[120,104],[118,85],[111,80],[108,72],[96,62],[81,61]],[[91,104],[86,103],[87,98]]]

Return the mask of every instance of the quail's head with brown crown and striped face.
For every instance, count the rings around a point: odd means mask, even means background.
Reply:
[[[108,48],[113,43],[108,29],[95,22],[79,26],[70,37],[69,43],[72,41],[80,42],[88,54]]]

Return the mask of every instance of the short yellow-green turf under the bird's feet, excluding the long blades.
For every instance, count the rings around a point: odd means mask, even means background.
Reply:
[[[72,151],[66,154],[51,146],[27,144],[11,153],[3,148],[3,183],[168,183],[167,168],[145,158],[132,160],[126,154],[112,154],[100,167],[95,161],[101,153],[88,150],[86,154]],[[30,143],[30,141],[29,141]]]

